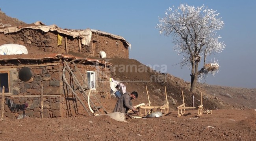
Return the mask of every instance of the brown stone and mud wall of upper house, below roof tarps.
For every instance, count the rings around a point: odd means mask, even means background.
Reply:
[[[63,38],[58,46],[58,34]],[[82,39],[73,38],[57,31],[44,32],[39,29],[22,29],[16,33],[9,33],[14,43],[21,41],[30,49],[65,54],[65,37],[67,37],[68,51],[79,52],[79,42],[81,42],[81,53],[84,56],[100,57],[100,51],[105,51],[107,58],[129,58],[129,49],[126,43],[111,36],[99,33],[92,33],[89,46],[82,45]]]

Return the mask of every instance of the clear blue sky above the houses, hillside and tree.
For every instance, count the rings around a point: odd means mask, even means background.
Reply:
[[[176,63],[172,37],[158,33],[158,16],[173,5],[207,5],[220,13],[224,29],[217,34],[226,49],[208,57],[218,59],[220,70],[204,83],[256,88],[255,0],[1,0],[1,10],[27,24],[41,21],[67,29],[97,29],[120,35],[132,44],[130,58],[145,65],[167,65],[167,73],[190,81],[191,70]]]

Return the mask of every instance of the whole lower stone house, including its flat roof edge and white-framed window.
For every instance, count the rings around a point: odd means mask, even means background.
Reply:
[[[16,105],[28,105],[26,110],[19,110],[6,103],[4,117],[16,119],[24,112],[30,117],[44,118],[90,115],[86,97],[90,90],[93,110],[99,113],[109,110],[105,108],[109,101],[107,76],[111,66],[104,60],[72,55],[2,55],[0,87],[5,87],[5,98]]]

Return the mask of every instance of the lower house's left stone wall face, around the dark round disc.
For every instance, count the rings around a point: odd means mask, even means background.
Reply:
[[[15,68],[10,70],[10,100],[16,104],[28,103],[26,108],[26,115],[30,117],[41,117],[40,97],[27,97],[31,95],[41,94],[41,84],[43,85],[44,95],[60,94],[61,68],[59,65],[45,66],[45,67],[29,67],[32,71],[32,78],[29,81],[21,81],[19,79],[19,70]],[[17,96],[17,97],[12,97]],[[20,97],[19,97],[20,96]],[[23,97],[24,96],[24,97]],[[47,117],[61,117],[63,116],[62,103],[63,97],[44,97],[43,98],[43,116]],[[15,119],[22,114],[22,110],[11,111],[5,105],[5,116]]]

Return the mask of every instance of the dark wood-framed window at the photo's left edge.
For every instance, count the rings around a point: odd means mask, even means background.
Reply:
[[[9,71],[0,71],[0,90],[2,93],[2,89],[4,86],[4,92],[9,92]]]

